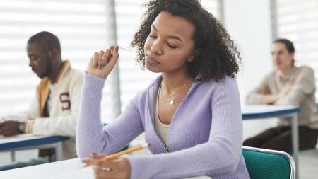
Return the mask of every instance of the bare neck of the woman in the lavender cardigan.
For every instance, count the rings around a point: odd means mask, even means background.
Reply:
[[[184,86],[187,82],[188,84],[192,84],[192,81],[188,81],[190,79],[189,75],[185,71],[182,74],[167,74],[163,73],[163,81],[161,82],[161,88],[165,89],[167,93],[172,93],[172,91],[177,90],[181,86]]]

